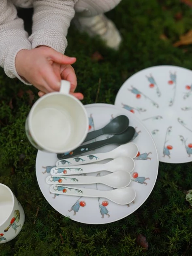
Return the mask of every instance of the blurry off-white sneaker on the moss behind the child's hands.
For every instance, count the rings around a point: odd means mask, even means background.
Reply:
[[[118,50],[122,37],[115,24],[103,14],[94,17],[76,17],[73,23],[81,32],[87,32],[91,37],[99,35],[106,45]]]

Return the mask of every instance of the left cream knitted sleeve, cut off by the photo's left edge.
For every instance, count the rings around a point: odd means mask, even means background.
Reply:
[[[25,82],[15,68],[15,57],[22,49],[31,49],[23,20],[17,17],[17,10],[10,1],[0,0],[0,66],[10,78],[17,77]]]

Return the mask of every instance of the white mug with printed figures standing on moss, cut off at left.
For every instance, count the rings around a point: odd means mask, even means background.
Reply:
[[[25,221],[23,207],[9,187],[0,183],[0,244],[19,234]]]

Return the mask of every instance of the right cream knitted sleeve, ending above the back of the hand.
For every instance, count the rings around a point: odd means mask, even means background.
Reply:
[[[35,0],[32,35],[29,40],[32,48],[49,46],[64,53],[67,47],[66,35],[75,15],[77,0]]]

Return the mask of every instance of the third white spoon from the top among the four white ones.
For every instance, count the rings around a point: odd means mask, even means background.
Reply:
[[[131,175],[127,171],[116,171],[105,176],[48,176],[47,184],[105,184],[114,189],[127,187],[131,182]]]

